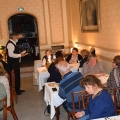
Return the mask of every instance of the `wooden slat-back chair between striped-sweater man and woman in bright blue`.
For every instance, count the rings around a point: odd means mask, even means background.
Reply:
[[[70,120],[71,116],[73,117],[73,120],[77,120],[75,117],[76,109],[77,111],[80,111],[85,110],[88,107],[89,94],[85,90],[81,90],[77,92],[72,92],[71,97],[73,110],[72,111],[68,110],[68,120]],[[77,106],[74,102],[75,100],[78,101]]]

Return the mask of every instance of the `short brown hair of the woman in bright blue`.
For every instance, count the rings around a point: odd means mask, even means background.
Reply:
[[[99,88],[103,88],[103,84],[101,83],[101,81],[95,76],[95,75],[87,75],[85,78],[83,78],[80,81],[80,85],[81,86],[86,86],[86,85],[92,85],[94,86],[95,84],[97,84],[97,86]]]

